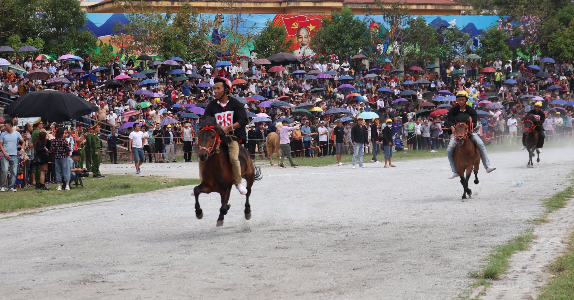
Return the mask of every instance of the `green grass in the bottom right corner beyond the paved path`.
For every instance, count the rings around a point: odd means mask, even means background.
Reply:
[[[570,235],[568,252],[554,260],[548,269],[554,277],[542,287],[538,300],[574,299],[574,233]]]

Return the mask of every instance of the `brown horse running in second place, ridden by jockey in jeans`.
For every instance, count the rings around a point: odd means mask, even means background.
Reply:
[[[468,123],[467,123],[468,122]],[[468,135],[472,132],[472,119],[468,121],[455,121],[455,163],[457,173],[460,176],[460,183],[463,185],[463,202],[471,198],[472,191],[468,188],[468,179],[474,168],[474,184],[478,184],[478,169],[480,165],[480,152],[478,148],[469,140]],[[467,141],[469,140],[469,141]],[[466,142],[466,143],[465,143]]]

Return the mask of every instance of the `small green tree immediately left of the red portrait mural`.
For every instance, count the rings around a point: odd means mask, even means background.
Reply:
[[[285,27],[276,26],[271,21],[265,22],[265,27],[255,35],[254,39],[254,50],[259,57],[287,52],[291,45],[293,45],[293,40],[287,38]]]

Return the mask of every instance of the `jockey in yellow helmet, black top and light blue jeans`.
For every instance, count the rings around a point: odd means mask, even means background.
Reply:
[[[472,119],[473,127],[476,125],[476,110],[472,108],[470,105],[467,104],[468,102],[468,93],[464,90],[460,90],[455,94],[456,96],[456,103],[457,105],[451,108],[448,112],[447,118],[447,125],[451,128],[451,131],[455,132],[455,120],[468,120],[470,117]],[[495,167],[490,165],[490,160],[488,160],[488,156],[486,153],[486,147],[484,147],[484,143],[480,139],[478,135],[474,132],[468,133],[468,138],[476,145],[478,151],[480,152],[480,158],[482,159],[482,164],[484,168],[486,168],[486,172],[490,173],[494,171]],[[457,173],[456,163],[455,163],[455,146],[456,146],[456,139],[454,135],[452,136],[451,140],[448,143],[447,147],[447,155],[448,155],[448,162],[451,164],[451,176],[448,179],[453,179],[455,177],[459,177]]]

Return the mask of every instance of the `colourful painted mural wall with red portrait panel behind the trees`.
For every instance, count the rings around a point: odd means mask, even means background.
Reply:
[[[215,14],[205,15],[206,17],[215,18]],[[315,32],[321,27],[321,18],[323,15],[290,15],[290,14],[253,14],[245,15],[246,28],[261,28],[263,24],[270,20],[277,26],[285,26],[287,36],[293,40],[293,46],[290,49],[293,54],[298,56],[312,56],[315,51],[311,48],[311,40]],[[380,56],[386,56],[389,52],[388,42],[385,41],[388,27],[383,21],[381,15],[369,15],[369,30],[373,48],[377,49]],[[476,38],[492,24],[499,23],[500,17],[493,15],[422,15],[430,26],[439,28],[441,26],[456,26],[461,32],[468,33],[474,39],[474,45],[479,46]],[[124,14],[120,13],[88,13],[88,22],[86,29],[91,30],[100,40],[100,45],[110,42],[112,30],[117,22],[127,23],[128,20]],[[117,45],[113,45],[113,52],[120,54]],[[251,49],[242,49],[241,55],[249,57]]]

